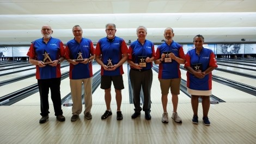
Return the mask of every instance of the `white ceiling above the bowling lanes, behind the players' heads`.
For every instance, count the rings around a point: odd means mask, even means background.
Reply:
[[[78,24],[96,43],[106,36],[107,23],[116,24],[116,36],[127,43],[137,40],[139,25],[148,28],[147,39],[156,44],[167,27],[179,43],[192,43],[197,34],[205,43],[256,43],[256,1],[0,0],[0,45],[29,45],[42,37],[44,24],[64,43],[74,38],[71,29]]]

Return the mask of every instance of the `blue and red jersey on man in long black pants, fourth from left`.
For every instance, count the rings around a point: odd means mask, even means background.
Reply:
[[[128,54],[128,59],[132,60],[134,63],[138,63],[141,62],[141,60],[139,60],[138,56],[145,56],[145,57],[155,57],[155,48],[154,48],[154,44],[149,41],[149,40],[145,40],[144,44],[142,45],[138,40],[134,41],[131,43],[130,47],[129,47],[129,54]],[[143,67],[143,70],[147,70],[147,69],[151,69],[153,66],[152,62],[146,63],[146,67]],[[133,68],[132,66],[130,66],[131,68]]]

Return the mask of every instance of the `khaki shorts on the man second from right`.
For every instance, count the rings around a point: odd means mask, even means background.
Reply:
[[[174,95],[180,94],[181,78],[159,79],[159,81],[160,81],[162,95],[167,95],[169,93],[169,89],[171,94],[174,94]]]

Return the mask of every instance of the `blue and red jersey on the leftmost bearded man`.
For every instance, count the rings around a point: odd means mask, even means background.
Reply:
[[[51,37],[50,40],[45,43],[44,38],[39,38],[32,42],[27,56],[38,61],[44,61],[45,53],[50,56],[51,60],[58,60],[60,57],[64,57],[64,45],[62,41],[57,38]],[[35,78],[36,79],[48,79],[61,77],[60,64],[56,67],[46,65],[45,67],[39,67],[36,65]]]

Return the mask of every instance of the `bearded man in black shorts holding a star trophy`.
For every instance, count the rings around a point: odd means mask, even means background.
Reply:
[[[111,112],[111,84],[113,82],[115,88],[115,100],[117,101],[117,120],[123,120],[121,113],[122,94],[121,89],[124,89],[123,82],[123,63],[128,57],[128,48],[125,41],[115,36],[115,24],[106,24],[107,37],[99,40],[95,49],[95,60],[101,66],[101,89],[105,90],[105,103],[107,110],[101,116],[101,119],[106,119],[112,115]]]

